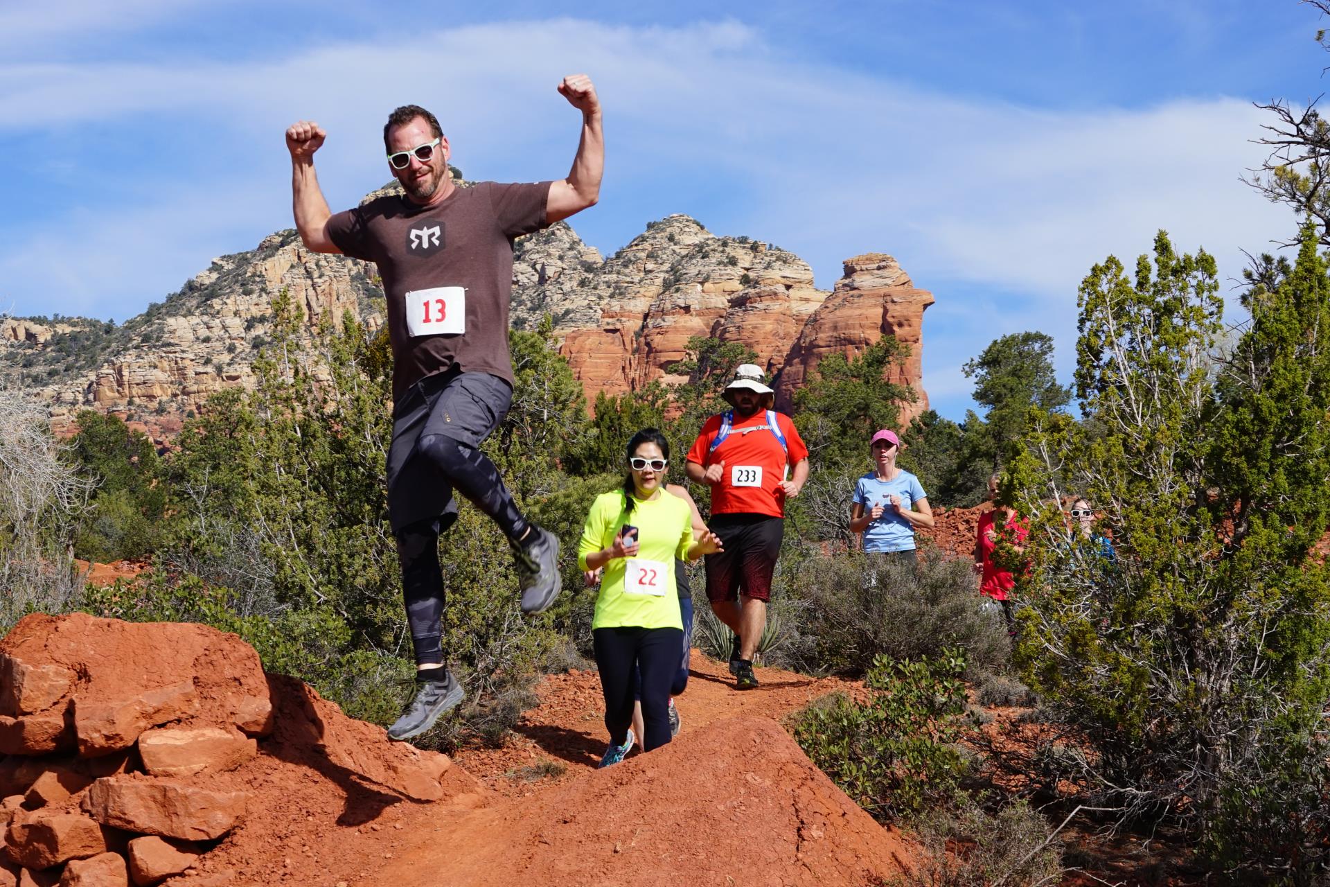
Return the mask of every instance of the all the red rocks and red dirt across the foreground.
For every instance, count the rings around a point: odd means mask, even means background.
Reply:
[[[745,702],[773,713],[823,685],[763,677]],[[206,626],[29,616],[0,681],[7,723],[64,727],[55,753],[20,730],[0,758],[0,887],[868,884],[914,852],[775,722],[706,723],[702,705],[665,749],[499,798]],[[688,705],[708,690],[729,692]],[[585,719],[559,737],[593,762]]]

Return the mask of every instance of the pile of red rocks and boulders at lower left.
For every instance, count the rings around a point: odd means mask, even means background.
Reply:
[[[0,642],[0,884],[20,866],[41,882],[106,851],[136,883],[157,883],[160,867],[136,864],[165,864],[170,850],[217,883],[273,883],[281,860],[237,870],[247,856],[235,851],[302,828],[307,844],[326,834],[315,813],[366,822],[391,805],[484,793],[444,755],[266,676],[234,634],[85,614],[29,616]],[[326,870],[306,875],[318,883]]]

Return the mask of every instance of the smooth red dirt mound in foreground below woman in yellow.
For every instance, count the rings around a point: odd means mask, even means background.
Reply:
[[[362,883],[849,886],[910,854],[775,722],[743,717],[480,810]]]

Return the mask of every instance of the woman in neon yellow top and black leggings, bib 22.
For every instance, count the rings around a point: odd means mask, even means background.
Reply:
[[[633,747],[633,684],[641,674],[642,749],[670,741],[669,692],[684,642],[674,560],[721,551],[712,532],[693,539],[693,509],[665,492],[669,442],[644,428],[628,442],[624,485],[592,503],[577,545],[577,565],[602,577],[592,620],[592,649],[605,696],[609,746],[600,759],[618,763]]]

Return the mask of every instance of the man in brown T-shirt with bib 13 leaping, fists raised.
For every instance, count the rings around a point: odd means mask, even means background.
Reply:
[[[565,178],[463,188],[448,169],[452,148],[439,121],[403,105],[383,126],[388,169],[402,185],[332,214],[314,172],[327,136],[313,121],[286,130],[295,227],[315,253],[374,262],[387,295],[392,344],[392,444],[388,517],[398,541],[416,692],[388,727],[408,739],[458,705],[463,689],[444,665],[439,533],[458,516],[454,491],[508,537],[524,613],[540,613],[560,590],[559,540],[517,511],[480,444],[512,402],[508,303],[513,239],[568,218],[600,195],[604,166],[600,100],[587,74],[559,93],[581,112],[581,141]]]

